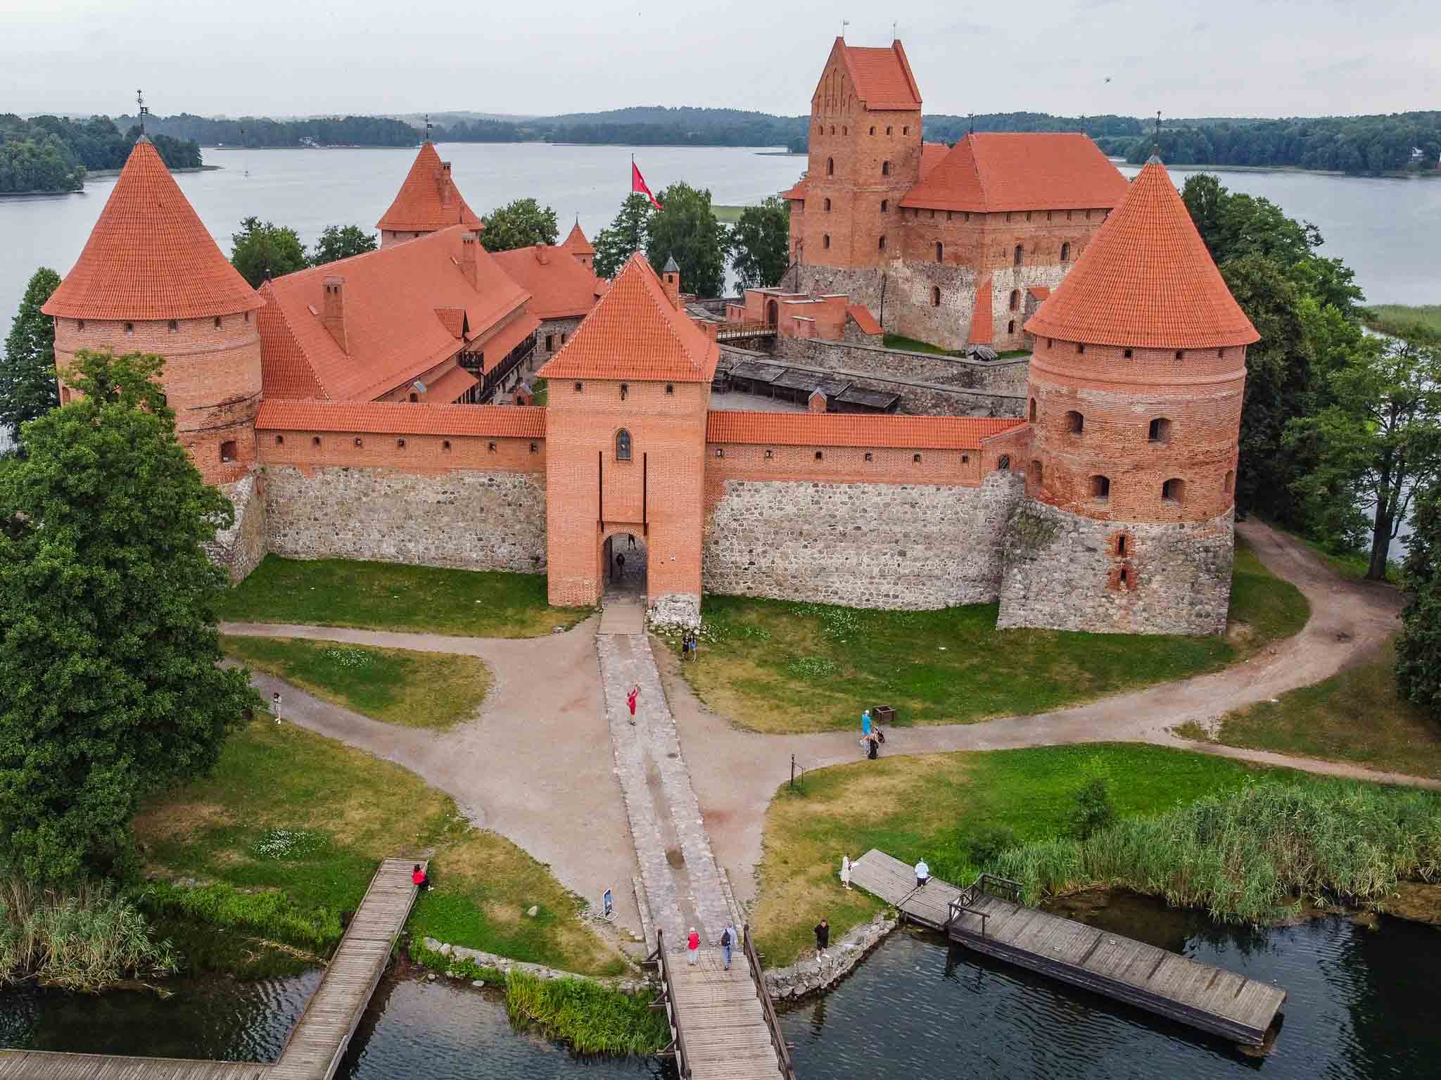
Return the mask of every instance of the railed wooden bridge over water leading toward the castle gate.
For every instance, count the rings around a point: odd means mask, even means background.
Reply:
[[[735,943],[729,971],[719,949],[702,949],[695,965],[683,952],[667,953],[664,930],[657,929],[647,960],[660,975],[651,1008],[664,1009],[670,1021],[666,1056],[676,1058],[682,1080],[795,1080],[751,927]]]

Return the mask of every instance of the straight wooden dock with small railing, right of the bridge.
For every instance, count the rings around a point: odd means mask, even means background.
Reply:
[[[976,952],[1082,986],[1244,1045],[1264,1045],[1285,991],[1095,926],[1026,907],[1020,886],[981,874],[957,888],[883,851],[852,864],[850,880],[905,919]]]

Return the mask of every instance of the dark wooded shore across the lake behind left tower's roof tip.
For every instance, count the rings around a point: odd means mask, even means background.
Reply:
[[[13,112],[0,114],[0,194],[78,192],[86,170],[124,166],[138,134],[138,127],[122,132],[108,117],[22,120]],[[200,164],[196,143],[167,135],[153,135],[151,141],[171,168]]]

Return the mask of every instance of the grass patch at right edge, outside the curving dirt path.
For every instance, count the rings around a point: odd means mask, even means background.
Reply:
[[[1396,696],[1395,665],[1388,642],[1316,685],[1226,713],[1215,742],[1441,779],[1441,724]]]

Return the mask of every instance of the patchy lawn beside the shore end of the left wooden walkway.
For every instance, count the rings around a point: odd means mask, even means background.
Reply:
[[[471,828],[450,796],[362,750],[274,724],[236,732],[215,773],[151,799],[135,821],[147,871],[281,890],[304,919],[354,910],[379,861],[434,850],[435,888],[411,913],[432,936],[520,960],[614,975],[624,960],[581,901],[510,841]],[[526,910],[539,907],[539,916]],[[330,942],[333,945],[333,942]]]

